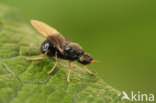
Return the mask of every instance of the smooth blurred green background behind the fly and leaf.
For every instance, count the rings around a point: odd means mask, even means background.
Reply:
[[[156,1],[0,0],[0,3],[19,8],[28,24],[31,19],[43,21],[79,43],[85,52],[101,61],[87,67],[112,87],[129,96],[131,91],[156,96]]]

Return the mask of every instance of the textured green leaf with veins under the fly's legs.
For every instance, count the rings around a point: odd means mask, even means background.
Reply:
[[[0,103],[123,103],[121,92],[83,68],[59,60],[48,75],[54,58],[41,57],[44,37],[24,23],[18,10],[0,5]]]

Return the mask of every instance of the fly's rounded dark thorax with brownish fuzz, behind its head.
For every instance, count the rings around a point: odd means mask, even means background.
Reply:
[[[82,47],[77,43],[68,43],[64,47],[64,51],[72,58],[78,58],[79,55],[84,53]]]

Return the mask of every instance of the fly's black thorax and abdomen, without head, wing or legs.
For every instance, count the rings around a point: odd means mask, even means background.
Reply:
[[[48,39],[46,39],[42,43],[40,51],[42,54],[44,54],[46,51],[49,51],[47,53],[47,56],[49,57],[54,57],[55,53],[57,52],[58,58],[70,61],[77,60],[81,54],[84,54],[82,47],[77,43],[64,42],[62,48],[64,52],[60,52],[55,45],[53,45]]]

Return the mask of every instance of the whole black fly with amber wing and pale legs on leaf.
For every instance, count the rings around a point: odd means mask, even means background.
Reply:
[[[33,59],[27,58],[27,60],[39,60],[44,59],[45,56],[49,57],[55,56],[56,63],[51,69],[51,71],[47,72],[48,74],[51,73],[56,67],[58,58],[68,60],[69,61],[69,73],[67,78],[68,82],[70,82],[69,74],[71,69],[71,62],[74,60],[77,60],[79,63],[83,64],[84,68],[90,74],[95,75],[95,73],[92,73],[85,67],[87,64],[94,63],[93,57],[90,54],[84,53],[80,45],[78,45],[77,43],[72,43],[69,39],[60,34],[56,29],[50,27],[49,25],[41,21],[31,20],[31,24],[39,33],[41,33],[44,37],[46,37],[46,40],[42,43],[40,48],[40,51],[42,54],[44,54],[44,56]]]

